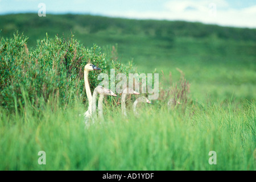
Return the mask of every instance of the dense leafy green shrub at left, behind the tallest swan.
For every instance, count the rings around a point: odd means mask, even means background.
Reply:
[[[68,104],[75,97],[86,101],[84,86],[84,66],[91,63],[102,72],[115,68],[125,72],[126,67],[118,60],[106,60],[105,53],[96,44],[85,48],[73,38],[55,36],[49,39],[47,34],[38,40],[37,46],[28,51],[27,40],[18,32],[13,38],[0,40],[1,106],[8,110],[32,105],[40,109],[49,98],[55,104]],[[90,87],[93,90],[100,82],[100,72],[90,72]]]

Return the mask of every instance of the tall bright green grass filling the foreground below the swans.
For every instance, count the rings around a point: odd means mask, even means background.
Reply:
[[[254,103],[190,109],[181,114],[152,105],[127,120],[117,109],[88,128],[79,117],[82,105],[47,107],[40,117],[1,111],[0,169],[255,170]],[[42,150],[46,165],[38,164]],[[208,163],[209,151],[216,151],[217,165]]]

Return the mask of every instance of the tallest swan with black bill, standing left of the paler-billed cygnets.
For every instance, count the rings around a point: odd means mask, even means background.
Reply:
[[[91,63],[86,64],[84,67],[84,84],[85,84],[86,96],[89,102],[88,110],[84,113],[85,118],[90,118],[90,116],[92,115],[92,92],[90,92],[88,75],[90,71],[95,71],[95,70],[101,70],[101,69]]]

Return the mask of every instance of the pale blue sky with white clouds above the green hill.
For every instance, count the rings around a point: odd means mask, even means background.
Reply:
[[[256,0],[0,0],[0,14],[92,14],[133,19],[186,20],[256,28]]]

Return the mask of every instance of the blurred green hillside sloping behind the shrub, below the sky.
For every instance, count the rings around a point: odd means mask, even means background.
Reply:
[[[28,37],[28,49],[36,40],[71,31],[86,48],[93,44],[112,51],[122,63],[133,60],[139,72],[156,72],[178,80],[179,68],[198,101],[225,101],[232,95],[241,101],[256,97],[256,30],[201,23],[132,20],[90,15],[13,14],[0,16],[1,36],[16,30]],[[111,57],[110,57],[111,58]],[[221,88],[221,89],[220,89]],[[236,92],[233,93],[233,91]],[[197,94],[198,93],[198,94]]]

